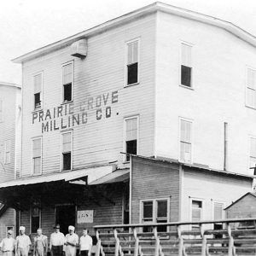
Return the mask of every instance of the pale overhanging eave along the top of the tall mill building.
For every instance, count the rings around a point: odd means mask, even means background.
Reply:
[[[12,61],[15,63],[22,63],[24,61],[31,60],[39,55],[44,55],[56,49],[61,49],[69,44],[73,44],[73,42],[81,38],[88,38],[97,33],[105,32],[106,30],[111,29],[114,26],[119,26],[129,20],[134,20],[141,16],[150,15],[156,11],[162,11],[168,14],[181,16],[183,18],[187,18],[190,20],[201,21],[212,26],[220,27],[225,31],[235,35],[237,38],[241,38],[241,40],[247,42],[248,44],[251,44],[253,47],[256,47],[256,37],[253,36],[253,34],[241,29],[241,27],[236,26],[235,24],[229,21],[221,20],[210,15],[203,15],[201,13],[191,11],[188,9],[179,8],[170,4],[156,2],[151,3],[143,8],[136,9],[125,15],[121,15],[117,18],[114,18],[113,20],[108,20],[107,22],[104,22],[98,26],[93,26],[92,28],[87,29],[83,32],[74,34],[71,37],[61,39],[53,44],[48,44],[42,48],[35,49],[31,52],[28,52],[25,55],[20,55]]]

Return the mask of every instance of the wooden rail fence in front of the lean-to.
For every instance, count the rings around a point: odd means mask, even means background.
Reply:
[[[256,218],[97,225],[96,256],[256,255]]]

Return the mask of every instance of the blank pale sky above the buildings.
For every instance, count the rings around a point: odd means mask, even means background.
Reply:
[[[11,60],[154,0],[0,0],[0,81],[21,84]],[[256,36],[255,0],[161,0],[228,20]]]

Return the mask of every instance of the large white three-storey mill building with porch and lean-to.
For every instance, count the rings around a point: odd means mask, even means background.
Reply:
[[[16,58],[21,168],[1,198],[32,234],[221,218],[253,184],[255,47],[153,3]]]

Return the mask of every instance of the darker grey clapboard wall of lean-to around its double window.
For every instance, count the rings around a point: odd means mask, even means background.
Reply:
[[[178,166],[132,157],[131,223],[140,223],[140,201],[170,198],[170,219],[179,218]]]

